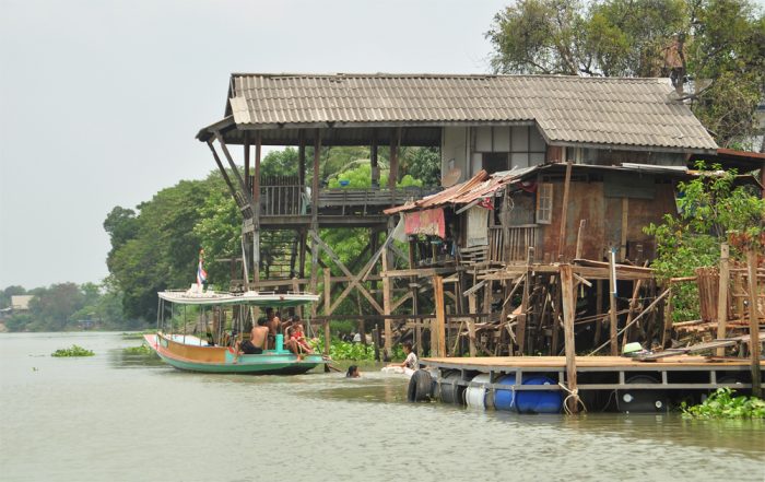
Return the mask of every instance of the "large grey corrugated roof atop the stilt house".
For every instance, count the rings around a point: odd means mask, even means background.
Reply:
[[[449,124],[536,120],[552,144],[714,150],[662,79],[560,75],[232,75],[237,125]]]

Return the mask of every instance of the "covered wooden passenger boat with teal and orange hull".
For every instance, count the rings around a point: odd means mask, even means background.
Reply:
[[[252,307],[286,308],[302,306],[318,301],[309,293],[216,293],[202,291],[192,285],[188,291],[164,291],[157,293],[160,306],[157,311],[156,333],[145,334],[149,346],[167,364],[183,371],[219,374],[251,375],[295,375],[303,374],[329,358],[321,354],[305,353],[296,355],[284,348],[283,336],[275,337],[274,348],[259,354],[239,354],[233,346],[238,333],[243,332],[246,321],[254,319]],[[197,319],[207,320],[215,313],[224,318],[231,309],[232,325],[225,330],[225,322],[219,324],[217,337],[208,331],[204,321],[205,339],[187,332],[187,311],[192,311]],[[175,332],[183,314],[184,330]],[[213,315],[214,316],[214,315]],[[225,319],[225,318],[224,318]]]

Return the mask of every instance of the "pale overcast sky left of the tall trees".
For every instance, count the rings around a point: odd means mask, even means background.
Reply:
[[[231,72],[485,73],[499,0],[0,0],[0,290],[108,272],[106,214],[214,168]]]

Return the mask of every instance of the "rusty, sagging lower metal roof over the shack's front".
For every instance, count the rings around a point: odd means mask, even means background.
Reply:
[[[554,163],[554,164],[543,164],[539,166],[526,167],[522,169],[504,171],[501,173],[486,174],[485,171],[481,169],[475,176],[466,180],[464,183],[451,186],[448,189],[444,189],[435,195],[426,196],[416,201],[410,201],[402,205],[397,205],[385,210],[386,214],[396,214],[399,212],[409,212],[425,210],[432,208],[442,208],[445,205],[457,205],[457,204],[469,204],[476,200],[493,197],[499,189],[506,186],[521,183],[525,179],[536,176],[538,173],[552,171],[552,169],[563,169],[565,164]],[[688,176],[688,169],[685,167],[678,166],[656,166],[648,164],[634,164],[624,163],[621,166],[595,166],[586,164],[574,164],[572,165],[572,172],[577,174],[578,172],[589,171],[589,172],[627,172],[634,174],[659,174],[664,177],[672,178],[686,178]],[[750,176],[751,177],[751,176]]]

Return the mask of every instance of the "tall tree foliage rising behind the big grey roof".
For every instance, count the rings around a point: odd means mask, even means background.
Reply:
[[[486,37],[495,72],[670,77],[718,144],[756,132],[765,16],[752,0],[519,0]]]

